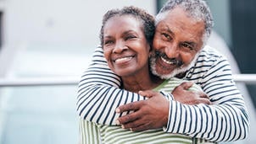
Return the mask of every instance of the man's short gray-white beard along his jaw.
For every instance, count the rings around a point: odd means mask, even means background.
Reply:
[[[193,67],[198,59],[198,55],[200,52],[198,52],[198,54],[193,58],[193,60],[190,62],[189,65],[187,66],[181,66],[178,68],[175,68],[172,72],[170,72],[169,74],[159,74],[156,71],[156,56],[150,56],[149,61],[150,61],[150,67],[151,67],[151,72],[153,73],[153,75],[156,75],[162,79],[168,79],[170,77],[175,77],[175,75],[181,73],[181,72],[186,72],[187,70],[189,70],[191,67]]]

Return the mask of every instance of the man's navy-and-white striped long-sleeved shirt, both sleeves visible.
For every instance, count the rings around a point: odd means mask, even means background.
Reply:
[[[248,111],[225,56],[205,46],[184,79],[201,86],[212,104],[186,105],[170,100],[169,122],[164,131],[209,141],[236,141],[248,136]],[[78,114],[85,120],[114,125],[121,116],[114,112],[115,108],[145,99],[119,86],[120,77],[109,69],[103,50],[97,48],[79,83]]]

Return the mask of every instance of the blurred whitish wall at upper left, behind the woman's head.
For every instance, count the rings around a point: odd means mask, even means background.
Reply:
[[[154,0],[3,0],[4,44],[85,45],[94,48],[103,13],[135,5],[155,12]],[[0,3],[1,4],[1,3]],[[36,48],[36,47],[35,47]],[[92,49],[93,49],[92,48]]]

